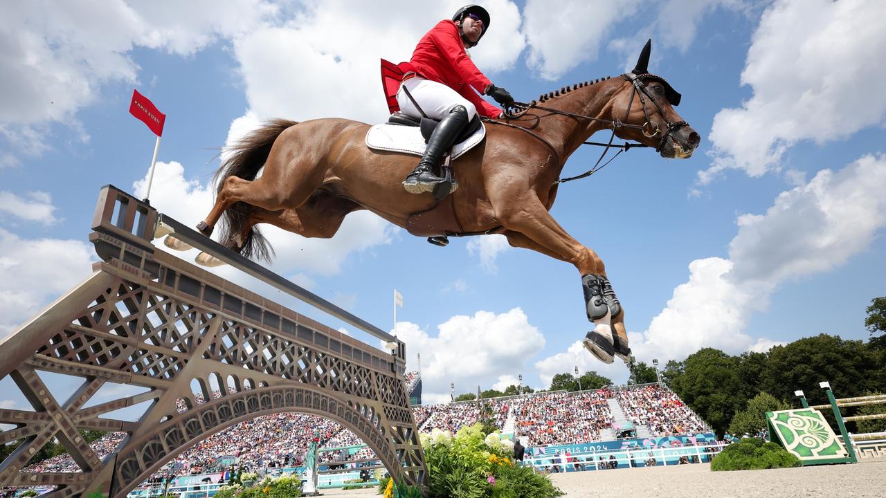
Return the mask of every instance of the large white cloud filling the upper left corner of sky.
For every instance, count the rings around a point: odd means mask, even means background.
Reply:
[[[12,3],[0,17],[0,135],[31,154],[46,150],[51,123],[87,140],[75,113],[107,83],[136,83],[134,48],[190,55],[252,31],[276,12],[260,0]]]

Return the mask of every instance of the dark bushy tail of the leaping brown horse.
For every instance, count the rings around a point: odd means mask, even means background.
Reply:
[[[255,180],[255,176],[268,160],[276,137],[280,136],[284,129],[295,124],[298,124],[297,121],[268,121],[229,147],[228,158],[221,161],[221,167],[215,172],[214,182],[217,185],[215,195],[221,193],[221,187],[229,176],[237,176],[250,182]],[[247,226],[249,214],[253,209],[253,206],[245,202],[235,202],[225,210],[221,218],[221,244],[235,251],[239,250],[247,258],[269,262],[274,257],[274,249],[268,244],[268,239],[261,235],[259,229],[253,227],[242,240],[239,240],[239,244],[236,244]]]

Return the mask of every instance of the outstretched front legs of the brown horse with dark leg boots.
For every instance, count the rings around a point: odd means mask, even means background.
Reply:
[[[624,311],[612,291],[600,257],[563,230],[540,199],[533,195],[523,196],[516,202],[510,197],[499,208],[495,208],[495,203],[493,205],[495,217],[509,230],[505,235],[511,245],[569,261],[579,270],[587,318],[595,324],[594,331],[588,332],[584,339],[587,350],[602,362],[611,363],[618,346],[619,357],[626,358],[630,349],[627,348],[627,336],[623,334]],[[616,323],[621,329],[616,336],[611,329],[613,316],[618,317]]]

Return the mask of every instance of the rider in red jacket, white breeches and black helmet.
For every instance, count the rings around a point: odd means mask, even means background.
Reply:
[[[398,65],[405,72],[397,91],[400,111],[414,118],[440,120],[422,160],[403,182],[410,193],[431,192],[446,181],[434,175],[434,168],[478,113],[487,118],[501,116],[501,109],[479,97],[475,89],[501,105],[514,100],[508,90],[496,87],[480,73],[466,51],[486,34],[489,20],[483,7],[465,5],[452,20],[441,20],[431,28],[418,42],[412,58]],[[453,191],[457,185],[453,183]]]

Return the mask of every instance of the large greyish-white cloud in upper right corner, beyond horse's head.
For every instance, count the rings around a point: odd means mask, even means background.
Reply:
[[[753,97],[714,117],[713,164],[700,182],[727,168],[764,175],[799,141],[882,125],[886,94],[871,82],[886,79],[886,30],[871,19],[886,19],[886,3],[793,0],[766,9],[742,72]]]

